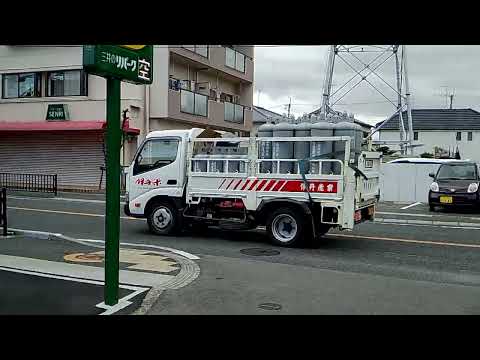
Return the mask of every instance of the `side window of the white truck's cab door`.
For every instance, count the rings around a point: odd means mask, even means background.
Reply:
[[[154,139],[147,141],[140,151],[134,166],[134,174],[158,169],[175,161],[178,139]]]

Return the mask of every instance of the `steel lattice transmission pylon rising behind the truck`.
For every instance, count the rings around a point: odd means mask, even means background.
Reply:
[[[366,60],[366,56],[372,56],[373,60]],[[376,54],[378,53],[378,54]],[[396,86],[390,85],[377,72],[377,70],[384,65],[389,59],[395,57],[395,67],[392,69],[395,73]],[[342,61],[347,67],[353,70],[354,75],[347,80],[332,93],[332,83],[334,77],[334,68],[337,61]],[[362,68],[358,70],[352,61]],[[369,76],[375,76],[380,79],[389,89],[396,94],[396,100],[391,100],[384,91],[378,89],[369,79]],[[357,80],[352,85],[353,80]],[[413,128],[412,128],[412,111],[410,105],[410,88],[408,83],[407,70],[407,49],[405,45],[330,45],[328,52],[327,67],[325,71],[325,82],[323,86],[323,101],[321,112],[325,115],[334,112],[333,107],[346,95],[348,95],[357,86],[367,83],[382,95],[388,102],[390,102],[396,111],[381,124],[376,130],[378,131],[383,125],[390,121],[396,114],[399,115],[399,131],[400,131],[400,148],[403,154],[406,150],[413,153]],[[346,89],[347,85],[350,88],[342,93],[341,90]],[[405,131],[405,124],[403,119],[403,111],[407,110],[408,133]]]

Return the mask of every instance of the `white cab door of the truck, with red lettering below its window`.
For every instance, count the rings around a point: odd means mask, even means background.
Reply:
[[[156,195],[182,196],[185,176],[180,137],[147,139],[129,168],[129,200],[155,190]]]

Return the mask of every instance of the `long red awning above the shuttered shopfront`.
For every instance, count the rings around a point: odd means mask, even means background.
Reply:
[[[35,121],[35,122],[0,122],[0,132],[3,131],[87,131],[103,130],[105,121]],[[129,121],[123,127],[128,134],[138,135],[140,129],[131,128]]]

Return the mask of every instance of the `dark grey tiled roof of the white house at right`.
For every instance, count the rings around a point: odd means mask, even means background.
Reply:
[[[406,111],[402,118],[408,130]],[[393,116],[380,130],[398,130],[398,119],[398,114]],[[480,113],[473,109],[413,109],[412,124],[413,130],[480,130]]]

